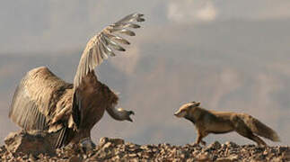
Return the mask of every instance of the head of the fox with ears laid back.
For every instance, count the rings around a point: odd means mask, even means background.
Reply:
[[[190,102],[190,103],[185,103],[180,106],[180,109],[174,113],[174,115],[178,118],[186,118],[187,116],[192,113],[193,109],[195,107],[198,107],[200,105],[199,102]]]

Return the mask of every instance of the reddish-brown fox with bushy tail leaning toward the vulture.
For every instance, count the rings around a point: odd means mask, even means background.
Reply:
[[[209,133],[221,134],[236,131],[241,136],[251,139],[259,146],[268,146],[261,136],[272,141],[281,141],[275,130],[247,113],[236,112],[215,112],[200,107],[199,102],[189,102],[180,106],[174,113],[178,118],[185,118],[191,121],[198,132],[194,144],[206,145],[203,138]]]

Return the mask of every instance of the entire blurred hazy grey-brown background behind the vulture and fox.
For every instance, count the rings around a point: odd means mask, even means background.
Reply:
[[[87,40],[138,12],[146,22],[129,39],[127,54],[97,70],[101,82],[121,93],[119,106],[136,112],[134,123],[105,115],[92,130],[95,141],[193,142],[192,124],[172,114],[182,103],[201,101],[208,109],[250,113],[277,130],[278,144],[289,145],[289,8],[286,0],[1,1],[0,123],[6,124],[0,139],[19,130],[7,114],[25,72],[48,66],[72,82]],[[206,141],[217,139],[250,143],[236,133]]]

